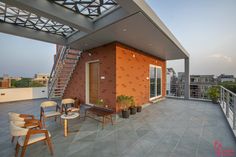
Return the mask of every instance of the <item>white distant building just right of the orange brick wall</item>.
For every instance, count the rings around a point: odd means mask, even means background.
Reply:
[[[175,86],[176,86],[176,73],[173,68],[167,68],[166,70],[166,94],[172,95],[175,93]]]

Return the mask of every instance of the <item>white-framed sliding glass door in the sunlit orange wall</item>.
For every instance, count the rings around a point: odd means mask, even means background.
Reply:
[[[155,99],[161,96],[161,67],[150,65],[150,99]]]

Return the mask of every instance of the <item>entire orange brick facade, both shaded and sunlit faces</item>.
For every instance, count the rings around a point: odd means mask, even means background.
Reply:
[[[134,96],[138,105],[149,102],[150,65],[162,67],[162,97],[165,96],[166,61],[121,43],[111,43],[82,53],[64,98],[78,97],[82,103],[86,102],[85,67],[90,61],[99,61],[100,76],[105,77],[100,80],[99,99],[117,112],[116,97],[121,94]]]

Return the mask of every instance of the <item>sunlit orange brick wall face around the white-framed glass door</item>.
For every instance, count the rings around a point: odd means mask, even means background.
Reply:
[[[139,50],[117,44],[116,95],[134,96],[136,104],[149,102],[150,64],[162,67],[162,96],[166,93],[166,61]]]

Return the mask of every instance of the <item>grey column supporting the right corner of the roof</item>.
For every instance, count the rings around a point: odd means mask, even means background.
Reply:
[[[184,73],[185,73],[184,99],[189,99],[190,98],[189,58],[185,58],[184,60]]]

